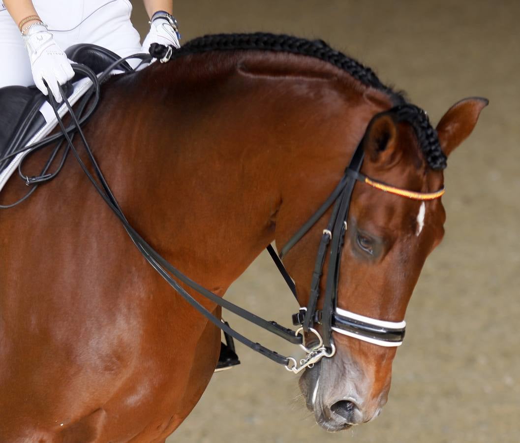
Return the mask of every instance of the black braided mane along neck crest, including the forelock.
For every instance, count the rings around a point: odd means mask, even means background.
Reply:
[[[414,105],[407,104],[405,98],[384,85],[375,73],[358,61],[332,49],[322,40],[305,40],[290,35],[269,33],[254,34],[215,34],[193,39],[180,49],[174,51],[172,58],[189,54],[199,54],[212,51],[260,50],[283,52],[314,57],[326,61],[350,74],[363,85],[385,92],[397,105],[399,118],[408,121],[417,134],[422,153],[428,166],[434,170],[446,168],[446,156],[440,148],[437,132],[430,124],[426,113]],[[153,46],[152,46],[153,55]],[[160,57],[160,55],[159,55]]]

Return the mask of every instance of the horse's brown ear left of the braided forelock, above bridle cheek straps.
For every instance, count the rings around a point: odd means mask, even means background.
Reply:
[[[400,157],[396,145],[397,127],[394,119],[387,112],[376,115],[365,133],[363,141],[365,155],[373,163],[388,168],[393,166]]]

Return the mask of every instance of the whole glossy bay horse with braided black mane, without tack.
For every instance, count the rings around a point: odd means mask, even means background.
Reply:
[[[458,102],[436,133],[423,119],[426,141],[396,117],[403,104],[321,41],[215,35],[110,80],[84,131],[128,221],[223,296],[326,200],[357,146],[361,173],[387,190],[443,187],[446,157],[487,100]],[[0,204],[22,187],[11,179]],[[284,257],[300,306],[331,211]],[[357,182],[337,306],[401,322],[444,221],[439,198]],[[72,157],[30,201],[0,213],[0,246],[0,441],[163,442],[210,381],[218,328],[146,264]],[[300,387],[316,421],[338,431],[380,413],[396,347],[337,332],[333,340],[335,355],[309,366]]]

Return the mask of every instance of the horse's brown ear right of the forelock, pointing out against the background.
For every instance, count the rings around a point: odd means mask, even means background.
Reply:
[[[471,134],[480,111],[488,103],[487,98],[464,98],[449,108],[443,118],[440,119],[439,124],[437,124],[437,135],[446,156],[449,156]]]

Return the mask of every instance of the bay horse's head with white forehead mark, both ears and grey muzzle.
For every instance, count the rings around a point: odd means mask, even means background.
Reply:
[[[421,195],[443,188],[446,157],[470,135],[486,105],[485,99],[468,98],[446,112],[436,128],[442,151],[434,159],[421,148],[412,124],[392,110],[379,113],[361,142],[365,154],[361,172],[379,183]],[[327,214],[285,260],[301,306],[307,306],[309,300],[316,238],[320,238],[326,218]],[[382,323],[402,322],[424,261],[443,238],[445,219],[439,198],[406,198],[357,183],[346,220],[337,308]],[[289,223],[277,226],[277,243],[287,241],[290,229]],[[320,285],[323,293],[324,282]],[[318,308],[323,308],[323,296]],[[335,355],[307,368],[300,378],[308,409],[329,431],[368,422],[380,414],[396,353],[396,346],[340,332],[332,332]]]

